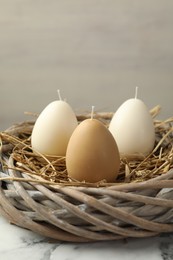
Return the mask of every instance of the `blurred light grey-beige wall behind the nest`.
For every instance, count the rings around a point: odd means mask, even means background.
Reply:
[[[0,0],[0,130],[57,99],[173,115],[172,0]]]

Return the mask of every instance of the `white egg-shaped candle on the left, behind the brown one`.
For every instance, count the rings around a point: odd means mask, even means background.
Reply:
[[[33,150],[44,155],[65,156],[69,139],[77,125],[75,113],[67,102],[61,98],[51,102],[33,127]]]

